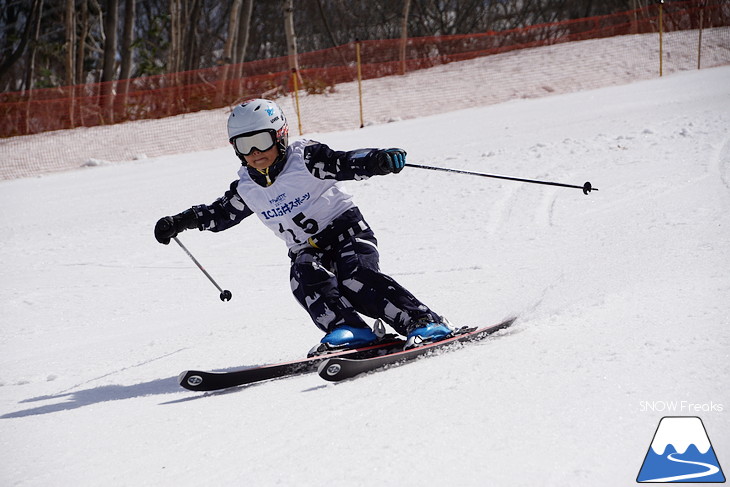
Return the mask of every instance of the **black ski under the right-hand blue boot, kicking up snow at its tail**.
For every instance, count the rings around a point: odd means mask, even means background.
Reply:
[[[388,365],[400,365],[418,357],[427,355],[435,350],[449,348],[457,343],[481,340],[499,330],[503,330],[511,326],[515,320],[516,318],[510,318],[501,323],[482,328],[464,327],[459,329],[453,336],[444,340],[381,356],[366,358],[342,356],[327,357],[319,364],[317,373],[325,380],[339,382]]]

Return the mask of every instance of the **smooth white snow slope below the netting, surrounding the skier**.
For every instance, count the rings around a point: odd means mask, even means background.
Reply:
[[[701,416],[727,468],[729,127],[721,67],[311,136],[599,191],[351,183],[384,271],[454,323],[519,322],[341,384],[215,394],[176,376],[320,338],[258,221],[181,236],[228,303],[152,237],[222,194],[230,149],[0,182],[0,484],[631,485],[666,415]]]

